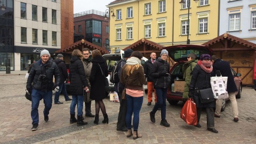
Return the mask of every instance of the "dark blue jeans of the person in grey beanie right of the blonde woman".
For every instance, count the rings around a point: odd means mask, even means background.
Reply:
[[[167,94],[167,88],[166,89],[162,89],[162,88],[156,89],[157,102],[152,110],[153,114],[155,114],[156,111],[158,110],[158,108],[161,108],[162,120],[165,120],[165,118],[166,118],[166,94]]]

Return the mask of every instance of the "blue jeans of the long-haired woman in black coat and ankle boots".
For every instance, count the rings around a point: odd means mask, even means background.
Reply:
[[[77,115],[83,115],[84,95],[72,95],[72,102],[70,104],[70,114],[75,114],[77,103]]]

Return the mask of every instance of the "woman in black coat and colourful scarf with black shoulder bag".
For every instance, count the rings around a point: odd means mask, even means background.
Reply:
[[[207,130],[218,133],[214,129],[214,107],[215,101],[208,103],[202,103],[199,100],[199,90],[207,89],[211,87],[210,79],[212,73],[212,62],[210,61],[211,56],[209,54],[202,54],[200,60],[192,71],[191,82],[189,85],[188,97],[193,98],[196,103],[197,111],[197,125],[196,127],[201,127],[199,124],[202,108],[206,110],[207,118]]]

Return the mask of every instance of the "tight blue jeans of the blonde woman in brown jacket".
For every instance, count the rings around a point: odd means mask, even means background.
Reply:
[[[137,131],[140,121],[140,109],[143,102],[143,95],[141,97],[131,97],[131,95],[126,95],[127,101],[127,112],[126,112],[126,127],[131,129],[132,123],[132,113],[133,113],[133,131]]]

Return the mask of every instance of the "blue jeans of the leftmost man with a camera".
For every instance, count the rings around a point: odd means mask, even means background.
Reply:
[[[44,99],[44,116],[49,115],[49,111],[52,108],[52,91],[42,92],[32,89],[31,93],[31,118],[33,120],[32,124],[38,124],[38,106],[40,100]]]

